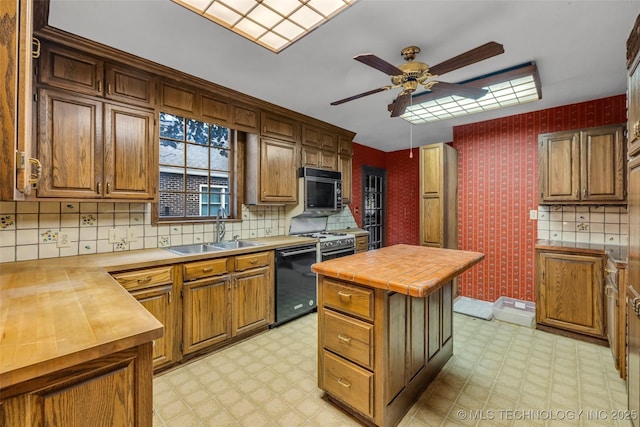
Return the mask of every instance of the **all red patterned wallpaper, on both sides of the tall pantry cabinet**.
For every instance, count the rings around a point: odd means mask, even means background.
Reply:
[[[461,295],[535,300],[537,224],[529,210],[537,208],[538,134],[625,121],[625,95],[617,95],[453,128],[459,156],[458,246],[485,254],[483,262],[461,275]],[[386,169],[387,245],[419,241],[417,150],[413,154],[354,144],[351,211],[362,225],[362,166]]]

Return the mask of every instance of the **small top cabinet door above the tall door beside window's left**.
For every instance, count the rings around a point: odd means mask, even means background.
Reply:
[[[113,101],[154,108],[156,83],[154,75],[131,67],[105,64],[105,98]]]

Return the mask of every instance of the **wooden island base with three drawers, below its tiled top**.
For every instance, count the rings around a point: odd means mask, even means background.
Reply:
[[[453,354],[452,284],[426,298],[318,276],[318,386],[367,424],[394,426]]]

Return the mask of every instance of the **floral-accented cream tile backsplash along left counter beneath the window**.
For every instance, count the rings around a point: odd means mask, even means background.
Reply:
[[[285,215],[283,206],[242,205],[223,240],[286,235]],[[349,227],[357,225],[348,207],[327,222]],[[147,203],[0,202],[0,262],[205,243],[214,232],[214,221],[153,225]]]

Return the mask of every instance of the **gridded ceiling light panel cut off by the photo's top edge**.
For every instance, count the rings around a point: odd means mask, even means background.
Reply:
[[[357,0],[172,0],[278,53]]]

